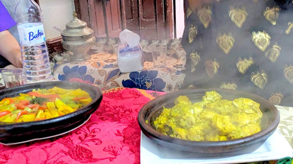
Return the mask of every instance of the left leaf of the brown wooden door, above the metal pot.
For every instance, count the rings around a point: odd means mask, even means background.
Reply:
[[[74,0],[74,4],[78,18],[87,22],[96,37],[118,37],[125,27],[124,0]]]

